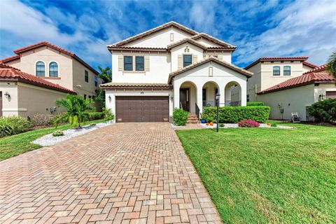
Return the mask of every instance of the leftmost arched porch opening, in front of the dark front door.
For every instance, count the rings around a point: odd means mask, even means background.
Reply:
[[[186,81],[180,86],[180,102],[179,108],[190,113],[196,112],[196,102],[197,102],[197,87],[191,81]]]

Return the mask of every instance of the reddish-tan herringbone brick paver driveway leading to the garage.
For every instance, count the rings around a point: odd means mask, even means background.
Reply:
[[[104,127],[0,162],[0,223],[221,223],[167,123]]]

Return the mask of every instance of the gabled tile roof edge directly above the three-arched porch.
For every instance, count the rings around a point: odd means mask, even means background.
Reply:
[[[241,73],[244,76],[247,76],[247,77],[253,76],[253,73],[250,72],[250,71],[246,71],[244,69],[239,68],[239,66],[235,66],[234,64],[230,64],[228,62],[224,62],[224,61],[222,61],[220,59],[217,59],[216,57],[212,57],[211,56],[211,57],[202,59],[200,62],[197,62],[195,64],[190,64],[190,65],[188,65],[188,66],[186,66],[186,67],[184,67],[182,69],[179,69],[177,71],[174,71],[174,72],[170,73],[169,79],[168,79],[168,83],[172,83],[172,78],[174,78],[174,76],[178,76],[179,74],[181,74],[181,73],[183,73],[185,71],[188,71],[190,69],[193,69],[193,68],[195,68],[197,66],[200,66],[200,65],[205,64],[205,63],[210,62],[210,61],[211,62],[216,62],[217,64],[221,64],[222,66],[225,66],[228,69],[236,71],[237,73]]]

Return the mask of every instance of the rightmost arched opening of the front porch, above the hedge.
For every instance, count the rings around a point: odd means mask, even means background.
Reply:
[[[241,86],[232,81],[225,85],[225,106],[241,106]]]

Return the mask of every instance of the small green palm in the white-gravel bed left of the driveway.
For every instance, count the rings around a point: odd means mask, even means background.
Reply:
[[[62,116],[62,120],[68,120],[72,127],[80,127],[85,118],[87,118],[86,111],[92,110],[88,104],[92,103],[91,99],[84,99],[78,95],[67,94],[64,99],[57,99],[56,105],[62,106],[66,109],[66,113]]]

